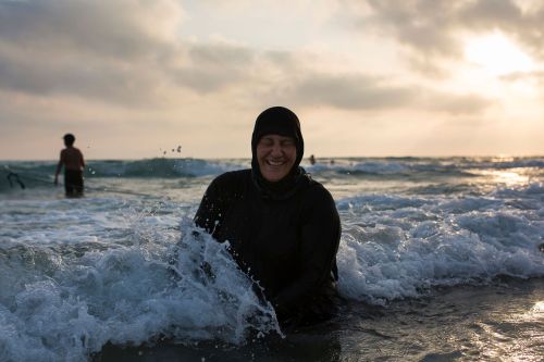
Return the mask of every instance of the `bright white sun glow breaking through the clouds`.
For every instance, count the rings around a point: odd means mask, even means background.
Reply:
[[[494,76],[534,68],[531,58],[499,33],[469,40],[465,58]]]

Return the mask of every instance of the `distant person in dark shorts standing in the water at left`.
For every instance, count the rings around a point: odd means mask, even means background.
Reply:
[[[59,185],[59,174],[64,166],[64,189],[66,197],[81,197],[83,196],[83,168],[85,167],[83,153],[74,147],[74,135],[66,134],[63,138],[66,148],[61,151],[59,164],[54,173],[54,185]]]

